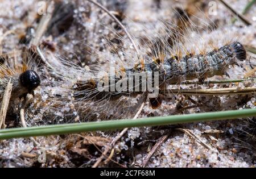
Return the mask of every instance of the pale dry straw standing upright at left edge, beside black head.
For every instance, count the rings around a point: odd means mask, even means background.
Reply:
[[[6,86],[5,93],[3,94],[3,99],[2,99],[1,109],[0,109],[0,129],[6,127],[5,118],[6,118],[6,113],[9,106],[12,89],[13,89],[13,84],[11,83],[11,79],[10,79],[10,81]]]

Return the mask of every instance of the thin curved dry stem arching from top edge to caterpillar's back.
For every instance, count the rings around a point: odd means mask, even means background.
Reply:
[[[118,25],[123,29],[123,31],[125,31],[127,37],[130,39],[131,43],[133,44],[133,47],[134,47],[136,53],[139,55],[139,49],[137,48],[137,45],[134,43],[133,38],[131,38],[130,33],[126,30],[125,26],[123,26],[123,24],[112,13],[110,13],[110,11],[108,9],[103,7],[100,3],[95,2],[93,0],[86,0],[86,1],[89,1],[89,2],[93,3],[94,5],[100,7],[100,9],[104,10],[110,17],[112,17],[115,20],[115,22],[118,23]]]

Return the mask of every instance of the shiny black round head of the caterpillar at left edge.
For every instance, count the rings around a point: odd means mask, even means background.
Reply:
[[[34,70],[26,70],[19,76],[20,85],[30,92],[40,85],[40,77]]]

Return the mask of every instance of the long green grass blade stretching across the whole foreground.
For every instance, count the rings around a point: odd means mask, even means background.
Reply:
[[[191,123],[208,120],[223,120],[256,116],[256,109],[218,111],[187,115],[158,116],[141,119],[106,120],[102,122],[85,122],[72,124],[57,124],[50,126],[10,128],[0,130],[0,139],[24,138],[29,136],[46,136],[71,134],[88,131],[117,130],[126,127],[162,126],[167,124]]]

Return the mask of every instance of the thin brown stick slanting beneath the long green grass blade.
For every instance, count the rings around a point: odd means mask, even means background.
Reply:
[[[141,113],[141,111],[142,111],[142,109],[143,109],[143,107],[145,105],[146,99],[147,99],[147,94],[144,95],[142,105],[139,108],[138,112],[135,114],[133,119],[137,119],[138,118],[139,114]],[[110,145],[108,145],[105,148],[105,151],[102,153],[102,155],[100,157],[98,157],[96,163],[93,164],[92,168],[96,168],[98,165],[100,165],[101,161],[104,159],[104,156],[106,156],[106,154],[109,152],[109,150],[114,147],[115,143],[126,133],[127,130],[128,130],[128,127],[124,128],[121,132],[119,132],[117,134],[117,136],[115,136],[115,138],[112,140]]]

